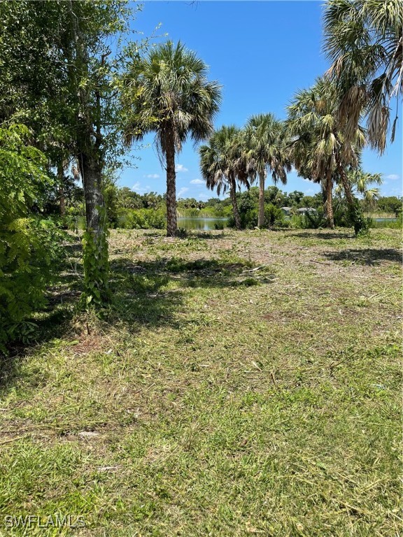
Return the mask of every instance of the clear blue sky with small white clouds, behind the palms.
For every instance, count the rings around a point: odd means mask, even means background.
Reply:
[[[215,127],[242,127],[254,113],[286,116],[286,106],[296,90],[309,87],[329,66],[321,51],[320,1],[146,1],[133,28],[156,41],[181,40],[208,64],[209,78],[222,85],[222,105]],[[155,30],[161,24],[160,28]],[[164,34],[167,34],[165,36]],[[144,140],[147,147],[133,152],[136,169],[125,169],[120,186],[136,192],[165,192],[165,171],[153,148],[154,136]],[[206,200],[216,196],[201,181],[197,150],[186,143],[176,157],[178,197]],[[382,173],[383,195],[402,194],[402,121],[395,143],[379,157],[364,151],[363,168]],[[267,185],[271,181],[267,180]],[[319,191],[318,185],[292,172],[287,192],[305,194]]]

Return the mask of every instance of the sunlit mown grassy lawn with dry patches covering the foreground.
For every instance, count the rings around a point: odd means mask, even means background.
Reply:
[[[2,364],[0,535],[400,535],[399,230],[110,250],[108,316],[75,313],[77,243]],[[85,528],[3,522],[55,513]]]

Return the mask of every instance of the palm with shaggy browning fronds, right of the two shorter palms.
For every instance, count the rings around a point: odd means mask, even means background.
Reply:
[[[337,89],[325,78],[318,78],[309,90],[295,95],[288,106],[287,127],[291,139],[290,158],[300,176],[320,182],[325,192],[327,225],[334,227],[332,189],[339,176],[348,205],[355,206],[346,169],[359,164],[365,143],[360,127],[349,141],[341,130],[337,113]]]

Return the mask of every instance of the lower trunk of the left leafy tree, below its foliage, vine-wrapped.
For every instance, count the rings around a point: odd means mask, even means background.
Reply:
[[[91,153],[80,155],[87,229],[83,240],[84,285],[87,302],[102,305],[110,300],[108,230],[101,193],[102,166]]]

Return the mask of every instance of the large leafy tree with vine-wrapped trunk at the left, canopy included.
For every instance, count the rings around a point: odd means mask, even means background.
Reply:
[[[59,169],[73,157],[83,181],[85,296],[108,300],[108,243],[102,176],[115,166],[120,146],[115,74],[122,68],[120,44],[131,10],[124,0],[2,2],[0,74],[8,90],[3,120],[17,118]]]

